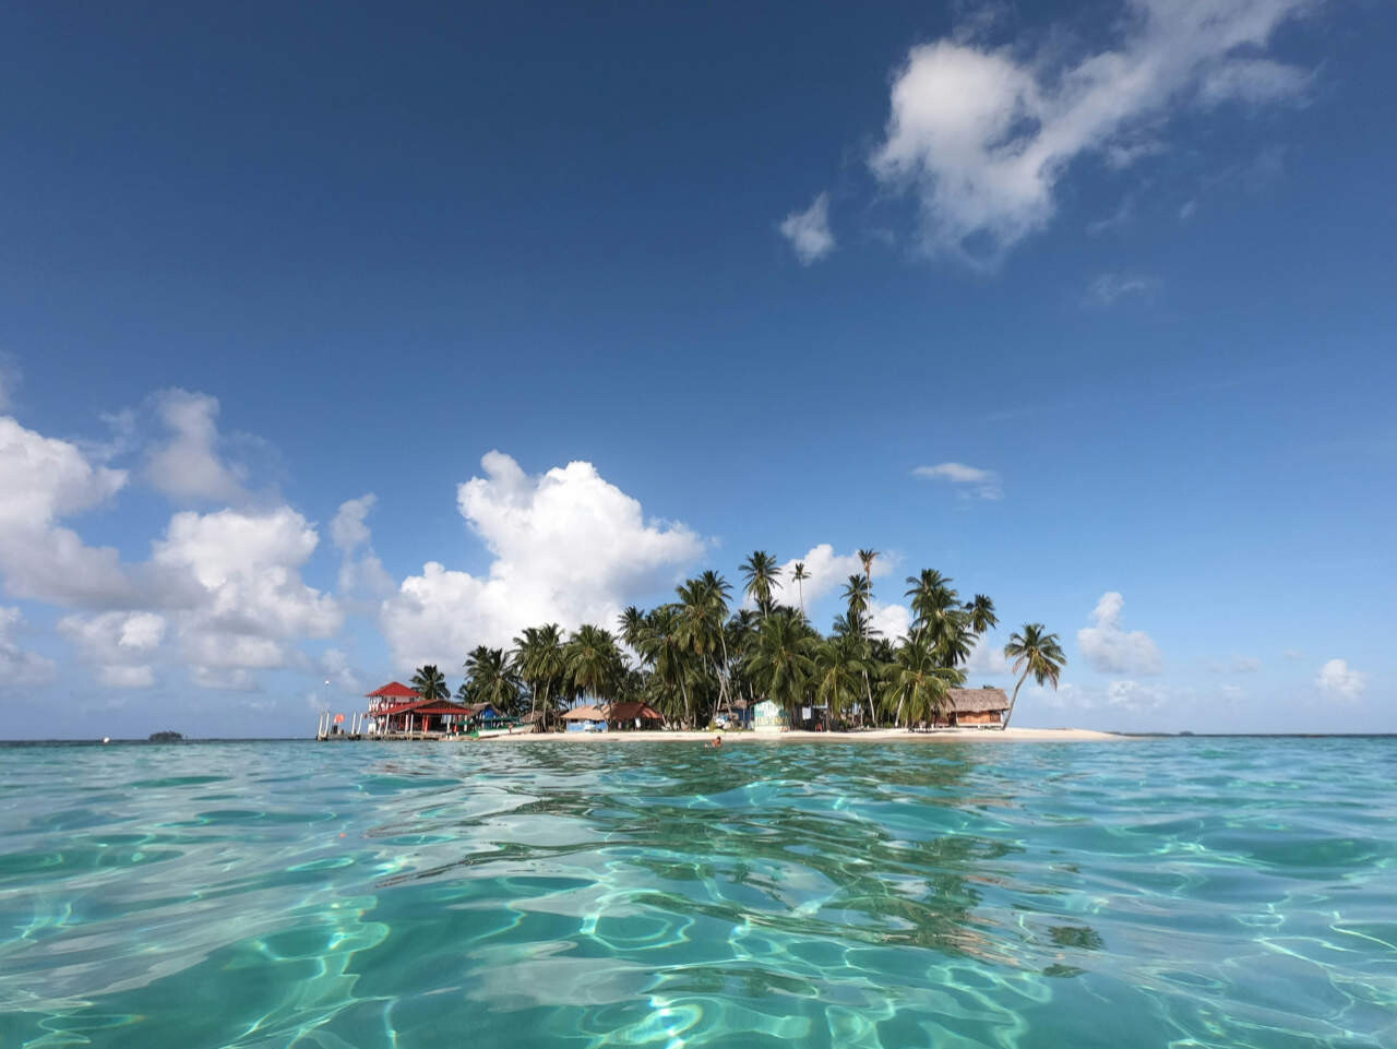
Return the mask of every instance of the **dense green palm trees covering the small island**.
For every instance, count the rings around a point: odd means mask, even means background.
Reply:
[[[848,577],[844,612],[828,634],[805,615],[803,563],[791,574],[796,606],[782,605],[781,568],[756,550],[742,563],[743,596],[732,608],[732,585],[705,571],[675,588],[675,601],[620,613],[616,631],[584,624],[564,637],[556,623],[527,627],[510,650],[481,645],[465,659],[462,703],[490,703],[502,714],[556,711],[567,703],[643,701],[673,724],[707,725],[738,701],[773,700],[792,712],[827,705],[835,724],[916,725],[947,711],[950,690],[965,680],[965,661],[997,623],[983,594],[963,601],[951,580],[933,568],[907,578],[912,622],[895,644],[872,623],[873,563]],[[1004,647],[1020,673],[1058,684],[1066,663],[1055,634],[1039,623],[1016,631]],[[418,668],[412,686],[426,698],[446,698],[436,666]],[[1013,700],[1010,701],[1010,714]],[[1007,718],[1006,718],[1007,725]]]

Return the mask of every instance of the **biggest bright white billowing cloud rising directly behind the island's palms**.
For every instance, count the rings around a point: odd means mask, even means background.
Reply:
[[[647,521],[590,462],[532,476],[492,451],[481,465],[485,476],[461,485],[457,503],[495,560],[483,577],[429,562],[383,602],[402,666],[455,666],[475,645],[507,645],[536,623],[612,627],[631,595],[673,582],[703,555],[694,532]]]

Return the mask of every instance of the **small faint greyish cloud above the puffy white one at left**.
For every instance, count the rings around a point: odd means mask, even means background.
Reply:
[[[151,453],[145,479],[175,500],[246,501],[246,469],[224,462],[218,454],[218,399],[162,390],[154,402],[169,440]]]

